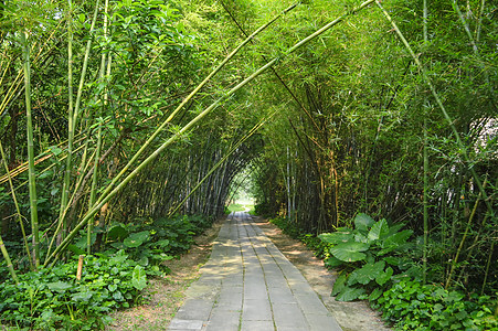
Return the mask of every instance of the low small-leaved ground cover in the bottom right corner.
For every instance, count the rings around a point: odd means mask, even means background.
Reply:
[[[458,291],[404,279],[371,302],[399,330],[497,330],[489,297],[474,299],[466,301]]]

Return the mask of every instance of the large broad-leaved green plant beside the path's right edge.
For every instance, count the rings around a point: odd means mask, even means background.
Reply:
[[[354,229],[340,227],[318,236],[330,245],[325,265],[342,268],[331,293],[338,301],[367,299],[369,293],[375,299],[396,277],[420,278],[420,268],[403,257],[412,231],[401,231],[402,226],[389,226],[385,220],[375,222],[360,213],[354,217]]]

